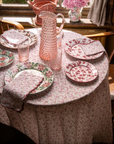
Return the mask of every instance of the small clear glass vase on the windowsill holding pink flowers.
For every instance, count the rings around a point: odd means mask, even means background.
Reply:
[[[70,21],[78,22],[81,19],[82,8],[79,9],[78,7],[74,7],[74,9],[70,10],[68,16]]]

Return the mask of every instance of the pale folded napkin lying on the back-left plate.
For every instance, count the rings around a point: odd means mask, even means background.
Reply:
[[[27,36],[23,35],[15,29],[5,31],[3,34],[1,34],[1,37],[4,40],[6,40],[9,44],[13,45],[21,44],[22,42],[28,39]]]

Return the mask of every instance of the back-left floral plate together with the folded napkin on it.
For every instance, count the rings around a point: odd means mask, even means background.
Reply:
[[[4,34],[1,35],[0,41],[4,47],[18,49],[17,44],[24,42],[26,38],[29,38],[29,46],[37,42],[37,35],[33,32],[15,29],[5,31]]]

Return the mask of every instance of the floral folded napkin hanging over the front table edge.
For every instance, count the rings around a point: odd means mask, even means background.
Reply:
[[[23,100],[43,81],[43,77],[33,75],[27,71],[4,86],[1,104],[16,111],[22,110]]]

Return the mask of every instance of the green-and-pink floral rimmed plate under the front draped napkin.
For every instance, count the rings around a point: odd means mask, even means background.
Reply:
[[[38,75],[44,78],[42,83],[30,94],[35,94],[44,91],[53,83],[54,75],[49,67],[41,63],[25,62],[13,66],[6,72],[5,84],[8,84],[10,81],[18,77],[23,71],[27,71],[34,75]]]

